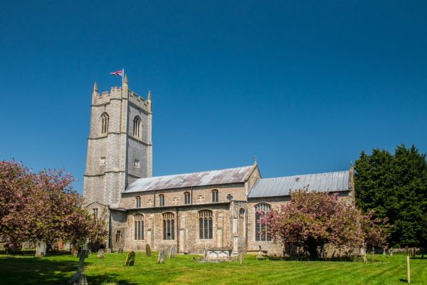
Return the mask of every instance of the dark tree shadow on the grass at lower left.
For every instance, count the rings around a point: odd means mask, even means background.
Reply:
[[[59,256],[58,256],[59,257]],[[56,257],[53,257],[56,258]],[[0,257],[1,284],[68,284],[71,276],[78,269],[75,261],[48,259],[28,256]],[[87,276],[90,284],[124,284],[130,283],[118,274],[97,274]]]

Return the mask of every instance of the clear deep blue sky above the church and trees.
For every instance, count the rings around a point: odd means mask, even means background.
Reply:
[[[427,152],[427,1],[2,1],[0,159],[82,191],[93,82],[152,90],[154,175]]]

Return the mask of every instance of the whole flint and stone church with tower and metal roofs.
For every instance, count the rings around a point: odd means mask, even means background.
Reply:
[[[112,250],[176,246],[205,251],[280,254],[260,217],[290,200],[290,191],[338,193],[354,203],[353,169],[262,178],[253,165],[152,176],[152,98],[121,88],[93,88],[83,196],[93,214],[107,213]]]

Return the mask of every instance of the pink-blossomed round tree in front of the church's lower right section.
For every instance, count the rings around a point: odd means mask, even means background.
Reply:
[[[384,246],[386,233],[371,214],[362,212],[337,194],[327,192],[291,192],[290,202],[272,209],[265,222],[275,242],[303,247],[310,257],[317,257],[326,244],[337,248],[361,247],[365,239]]]

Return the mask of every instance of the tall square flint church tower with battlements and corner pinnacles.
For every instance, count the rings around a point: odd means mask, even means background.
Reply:
[[[152,176],[152,103],[128,87],[110,93],[93,87],[88,156],[83,181],[85,204],[117,207],[120,192]]]

